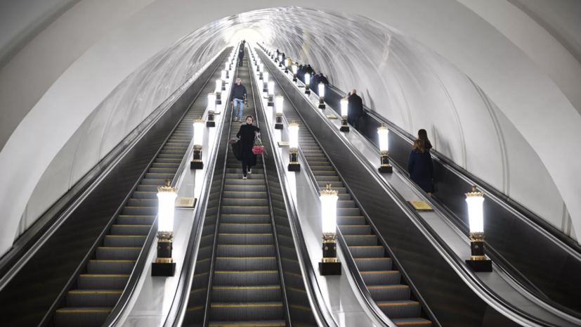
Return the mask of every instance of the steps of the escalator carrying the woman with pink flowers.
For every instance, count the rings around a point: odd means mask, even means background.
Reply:
[[[247,65],[238,68],[237,77],[249,90],[243,122],[252,115],[258,124]],[[240,123],[230,124],[230,139],[235,139]],[[184,326],[201,326],[204,316],[207,326],[287,326],[262,158],[247,179],[231,150],[225,167],[223,188],[214,174]]]

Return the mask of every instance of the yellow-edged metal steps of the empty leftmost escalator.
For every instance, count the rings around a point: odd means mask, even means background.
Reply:
[[[208,83],[201,94],[213,88],[214,85]],[[76,287],[67,293],[67,307],[56,310],[56,327],[100,326],[107,319],[129,281],[145,237],[157,216],[157,187],[174,179],[193,137],[193,121],[204,115],[206,108],[207,100],[203,96],[192,103],[105,235],[95,259],[89,260],[86,274],[80,274]]]

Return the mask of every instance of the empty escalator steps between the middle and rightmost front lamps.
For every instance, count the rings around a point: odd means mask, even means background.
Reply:
[[[348,245],[348,253],[355,259],[360,276],[377,306],[398,325],[431,326],[426,315],[422,314],[420,303],[412,299],[410,286],[402,281],[400,271],[393,269],[388,252],[372,233],[370,225],[301,116],[290,103],[285,105],[283,113],[288,121],[299,124],[299,147],[318,186],[324,189],[326,184],[331,184],[331,188],[339,192],[337,225]]]

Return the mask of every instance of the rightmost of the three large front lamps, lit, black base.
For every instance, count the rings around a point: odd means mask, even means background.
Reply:
[[[472,192],[466,193],[468,203],[468,217],[470,222],[470,259],[466,264],[476,272],[492,272],[492,260],[484,255],[484,193],[476,191],[472,186]]]

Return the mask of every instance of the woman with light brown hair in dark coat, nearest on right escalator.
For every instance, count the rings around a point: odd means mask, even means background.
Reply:
[[[410,173],[410,178],[417,184],[424,192],[431,195],[432,179],[433,179],[433,162],[430,151],[426,150],[424,141],[415,140],[414,148],[410,153],[410,159],[407,160],[407,172]]]

